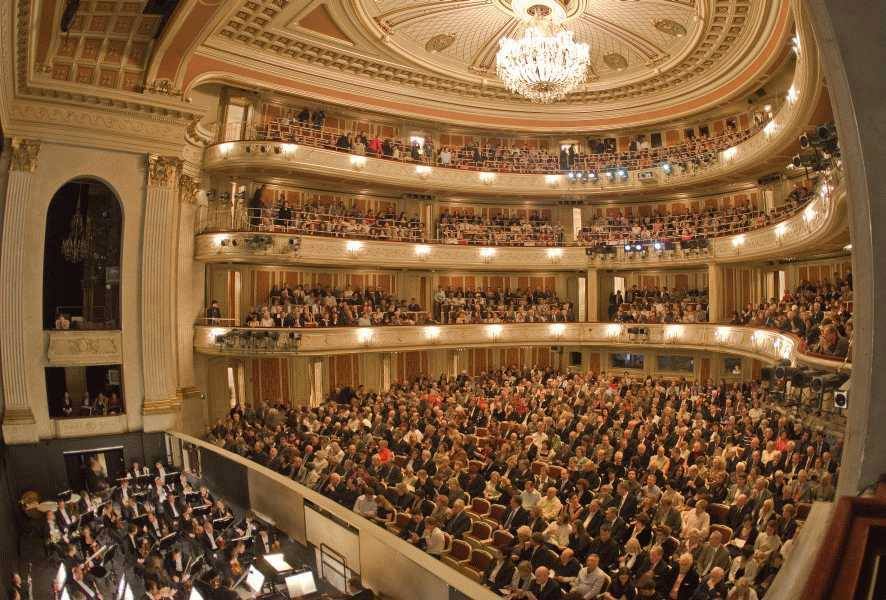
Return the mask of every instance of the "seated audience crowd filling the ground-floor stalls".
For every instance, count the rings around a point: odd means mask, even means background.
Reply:
[[[238,406],[209,437],[510,597],[762,597],[841,451],[775,392],[509,368]]]

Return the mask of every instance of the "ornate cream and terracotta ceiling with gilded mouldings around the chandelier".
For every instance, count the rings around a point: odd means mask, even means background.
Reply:
[[[20,38],[29,28],[32,84],[174,100],[225,82],[534,131],[645,125],[724,105],[772,76],[792,33],[789,0],[556,1],[590,44],[592,68],[581,89],[543,106],[495,75],[498,40],[518,24],[511,0],[180,0],[159,36],[145,0],[81,0],[65,34],[61,0],[17,4],[31,7],[18,26]]]

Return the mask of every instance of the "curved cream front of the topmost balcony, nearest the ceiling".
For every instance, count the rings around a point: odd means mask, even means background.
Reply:
[[[787,98],[768,121],[735,133],[680,146],[616,154],[579,155],[575,164],[561,164],[559,155],[514,149],[490,155],[479,151],[440,160],[405,153],[376,158],[366,149],[338,149],[337,131],[311,127],[260,128],[268,140],[227,141],[208,147],[209,172],[248,174],[261,171],[277,177],[314,177],[371,182],[374,185],[513,197],[604,196],[659,192],[740,179],[761,170],[781,169],[793,153],[801,131],[810,124],[821,96],[820,71],[814,52],[796,63]],[[344,143],[342,143],[344,145]],[[408,143],[407,143],[408,146]],[[353,148],[351,148],[353,150]],[[448,164],[447,164],[448,163]],[[570,177],[581,172],[582,177]]]

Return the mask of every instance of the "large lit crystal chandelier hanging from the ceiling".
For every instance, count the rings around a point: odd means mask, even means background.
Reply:
[[[516,0],[515,11],[517,5],[526,7],[521,35],[499,40],[496,72],[513,93],[532,102],[555,102],[584,83],[590,48],[572,39],[560,23],[563,11],[550,0]]]

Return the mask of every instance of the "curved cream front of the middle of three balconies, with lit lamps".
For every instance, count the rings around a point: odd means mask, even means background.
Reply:
[[[658,245],[655,241],[600,247],[491,247],[394,242],[275,233],[229,209],[227,223],[197,235],[195,256],[203,262],[387,267],[423,270],[474,269],[552,271],[592,268],[692,267],[710,262],[749,262],[837,250],[848,242],[846,193],[839,172],[823,181],[805,206],[788,218],[759,229],[707,239],[704,244]],[[254,228],[253,228],[254,227]],[[639,246],[639,249],[638,249]]]

